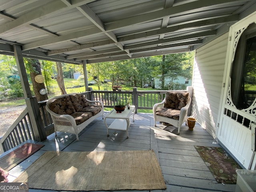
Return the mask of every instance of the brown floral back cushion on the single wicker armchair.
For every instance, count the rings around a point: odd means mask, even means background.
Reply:
[[[188,103],[188,92],[168,91],[165,95],[164,107],[181,110]]]

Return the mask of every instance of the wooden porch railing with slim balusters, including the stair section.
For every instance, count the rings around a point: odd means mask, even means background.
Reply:
[[[182,90],[187,92],[187,90]],[[155,103],[163,100],[166,90],[158,91],[138,91],[134,88],[132,91],[86,91],[83,94],[89,100],[100,100],[104,103],[105,108],[113,108],[118,102],[126,102],[130,97],[132,105],[137,109],[152,109]],[[54,124],[50,114],[45,110],[46,101],[38,102],[40,113],[44,124],[46,135],[54,132]],[[20,114],[17,120],[10,126],[8,131],[0,138],[0,154],[14,148],[15,146],[25,142],[26,140],[33,140],[34,134],[31,128],[30,118],[27,108]]]

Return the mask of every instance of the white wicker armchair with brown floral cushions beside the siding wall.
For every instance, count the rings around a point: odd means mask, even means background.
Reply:
[[[178,127],[178,134],[180,134],[182,123],[187,121],[190,102],[191,98],[188,92],[166,92],[164,100],[153,106],[155,126],[158,121],[166,122]]]

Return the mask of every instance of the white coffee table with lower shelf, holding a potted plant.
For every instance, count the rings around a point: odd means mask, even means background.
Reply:
[[[131,124],[131,120],[133,120],[134,122],[134,112],[135,112],[135,106],[130,106],[130,109],[128,109],[127,107],[125,108],[125,110],[122,113],[116,113],[116,110],[113,109],[112,111],[110,111],[104,118],[104,123],[107,127],[107,131],[108,130],[121,130],[121,131],[126,131],[126,136],[127,138],[129,138],[128,136],[128,128]],[[106,124],[106,119],[115,119],[110,126],[108,126]],[[109,136],[109,134],[107,133],[107,136]]]

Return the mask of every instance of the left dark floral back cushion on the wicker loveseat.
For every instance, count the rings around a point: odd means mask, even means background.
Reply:
[[[59,115],[72,114],[76,112],[69,96],[54,99],[50,102],[50,110]]]

